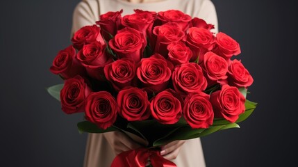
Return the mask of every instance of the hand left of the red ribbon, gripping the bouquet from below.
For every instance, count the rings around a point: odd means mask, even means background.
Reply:
[[[104,133],[104,137],[110,143],[111,148],[115,154],[120,154],[124,151],[129,151],[137,148],[141,148],[142,146],[138,143],[135,143],[129,136],[124,134],[123,132],[115,131],[115,132],[107,132]]]

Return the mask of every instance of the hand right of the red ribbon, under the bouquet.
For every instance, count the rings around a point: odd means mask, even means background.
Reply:
[[[160,155],[162,155],[165,159],[172,160],[176,159],[181,149],[181,146],[185,143],[185,141],[173,141],[163,146],[160,151]]]

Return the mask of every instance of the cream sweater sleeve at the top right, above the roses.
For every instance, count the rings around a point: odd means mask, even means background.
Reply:
[[[201,10],[199,10],[198,17],[204,19],[207,24],[213,24],[215,29],[211,31],[218,33],[217,13],[212,1],[205,0],[201,3]]]

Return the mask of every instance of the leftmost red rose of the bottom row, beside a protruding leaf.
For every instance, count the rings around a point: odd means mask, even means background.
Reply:
[[[83,112],[85,99],[90,92],[90,88],[79,75],[66,79],[60,92],[62,110],[67,114]]]

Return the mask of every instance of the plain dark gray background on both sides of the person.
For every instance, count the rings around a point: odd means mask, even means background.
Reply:
[[[45,90],[61,83],[49,67],[70,44],[78,1],[0,2],[0,166],[83,164],[87,135],[76,129],[83,116],[65,115]],[[240,129],[201,138],[207,166],[297,164],[295,1],[213,2],[220,31],[238,40],[238,58],[254,77],[248,99],[259,104]]]

